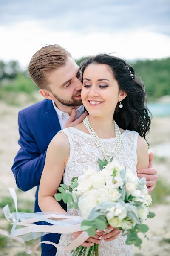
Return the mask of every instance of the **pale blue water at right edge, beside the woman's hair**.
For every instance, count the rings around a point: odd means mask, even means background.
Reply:
[[[153,116],[170,116],[170,103],[147,103]]]

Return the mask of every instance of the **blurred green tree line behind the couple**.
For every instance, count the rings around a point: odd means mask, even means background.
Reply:
[[[78,65],[88,57],[75,60]],[[128,61],[127,61],[128,62]],[[129,62],[146,87],[149,100],[170,95],[170,58],[159,60],[138,60]],[[37,90],[28,75],[22,71],[17,61],[0,61],[0,98],[6,92],[32,93]]]

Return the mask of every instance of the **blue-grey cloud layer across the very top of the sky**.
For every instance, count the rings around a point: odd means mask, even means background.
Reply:
[[[126,29],[170,35],[169,0],[1,0],[0,24],[37,21],[53,31],[123,32]]]

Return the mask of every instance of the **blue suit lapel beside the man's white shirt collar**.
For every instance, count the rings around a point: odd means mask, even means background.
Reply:
[[[52,100],[48,100],[48,111],[45,113],[53,136],[61,130],[57,113],[53,107]]]

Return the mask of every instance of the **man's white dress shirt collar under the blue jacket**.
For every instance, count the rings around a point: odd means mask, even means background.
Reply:
[[[52,102],[53,102],[54,109],[55,109],[55,111],[57,113],[61,129],[64,129],[65,128],[65,124],[66,124],[67,120],[70,118],[70,116],[69,116],[68,113],[63,112],[60,109],[58,109],[56,107],[55,103],[54,103],[54,100],[52,100]],[[79,108],[76,109],[76,112],[77,112],[77,115],[76,115],[75,119],[79,118],[83,114],[84,106],[83,105],[79,106]]]

